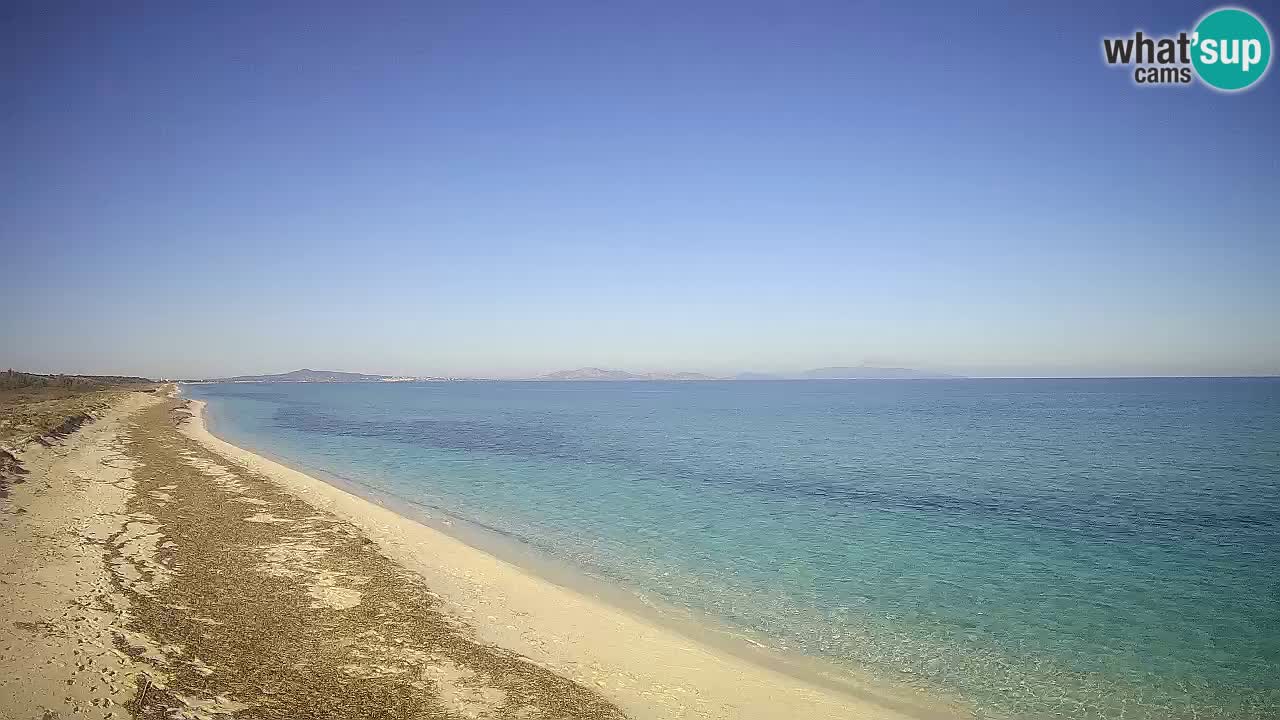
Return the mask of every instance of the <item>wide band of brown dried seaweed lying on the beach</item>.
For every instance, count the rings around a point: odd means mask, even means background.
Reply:
[[[125,451],[128,510],[150,519],[152,550],[120,589],[134,603],[129,632],[161,648],[151,661],[166,675],[141,685],[140,717],[623,716],[479,642],[417,575],[177,433],[175,413],[166,402],[140,415]]]

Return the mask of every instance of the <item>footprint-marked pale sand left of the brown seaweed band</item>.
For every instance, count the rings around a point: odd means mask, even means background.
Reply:
[[[111,582],[146,593],[145,578],[161,579],[147,518],[125,512],[133,480],[119,455],[123,423],[157,400],[131,393],[65,441],[19,452],[29,474],[0,515],[0,717],[125,717],[140,682],[164,682],[113,647],[155,652],[125,629],[129,601]]]

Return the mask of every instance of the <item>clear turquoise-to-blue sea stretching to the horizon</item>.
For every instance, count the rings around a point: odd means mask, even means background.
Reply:
[[[214,430],[979,717],[1280,717],[1280,380],[212,384]]]

